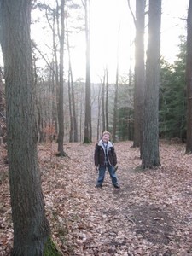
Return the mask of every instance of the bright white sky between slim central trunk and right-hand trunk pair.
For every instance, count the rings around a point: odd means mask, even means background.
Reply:
[[[115,81],[118,56],[119,73],[129,73],[134,57],[134,25],[127,0],[92,1],[90,9],[92,75],[100,77],[107,66],[109,79]]]

